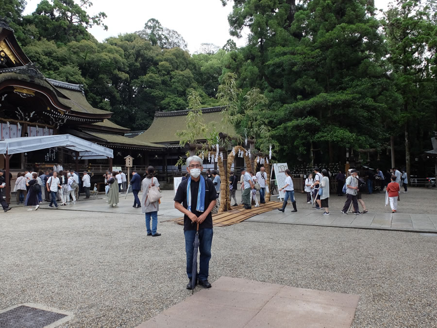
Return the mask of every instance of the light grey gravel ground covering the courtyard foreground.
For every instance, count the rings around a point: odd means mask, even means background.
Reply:
[[[180,225],[152,238],[140,215],[13,211],[0,216],[0,309],[42,303],[74,313],[62,327],[134,327],[191,294]],[[437,237],[261,223],[214,234],[213,288],[233,276],[354,293],[353,327],[437,327]]]

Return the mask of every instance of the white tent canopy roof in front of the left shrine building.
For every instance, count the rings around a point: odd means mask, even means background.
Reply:
[[[112,149],[72,135],[22,137],[0,140],[0,154],[18,154],[53,147],[63,147],[77,152],[77,159],[114,158]]]

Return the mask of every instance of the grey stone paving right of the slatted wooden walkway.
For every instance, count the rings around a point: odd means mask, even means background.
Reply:
[[[285,213],[270,211],[254,216],[246,222],[264,222],[281,224],[327,225],[335,227],[367,228],[383,230],[437,232],[437,215],[406,213],[372,213],[355,215],[331,210],[331,215],[322,215],[323,211],[302,209],[297,213],[286,209]]]

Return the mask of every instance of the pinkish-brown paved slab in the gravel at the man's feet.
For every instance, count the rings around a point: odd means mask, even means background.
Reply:
[[[137,328],[351,327],[358,295],[220,277]]]

